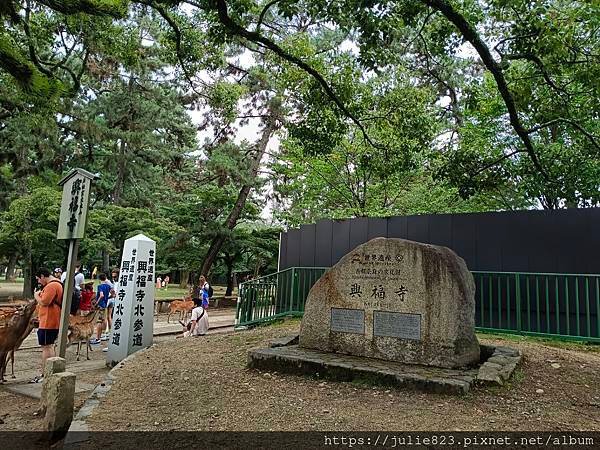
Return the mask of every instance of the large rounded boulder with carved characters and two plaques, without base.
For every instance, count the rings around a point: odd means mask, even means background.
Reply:
[[[376,238],[311,289],[300,347],[456,368],[479,362],[475,283],[446,247]]]

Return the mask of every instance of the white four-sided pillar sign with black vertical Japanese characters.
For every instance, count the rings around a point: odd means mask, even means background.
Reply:
[[[125,241],[107,361],[114,366],[152,345],[156,243],[138,234]]]

